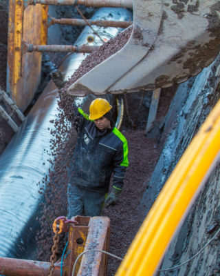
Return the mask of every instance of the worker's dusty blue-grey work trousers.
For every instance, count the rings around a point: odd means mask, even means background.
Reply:
[[[68,184],[68,219],[76,215],[95,217],[101,215],[104,194],[79,188]]]

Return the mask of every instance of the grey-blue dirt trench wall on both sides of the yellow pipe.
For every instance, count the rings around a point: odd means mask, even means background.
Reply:
[[[146,217],[184,150],[220,98],[219,78],[220,56],[208,68],[204,68],[197,77],[182,83],[177,89],[164,120],[164,131],[160,139],[160,142],[164,144],[162,154],[151,180],[146,184],[146,192],[141,201],[142,220]],[[217,166],[199,193],[186,219],[179,226],[164,255],[162,268],[176,266],[195,255],[219,228],[219,172],[220,166]],[[219,252],[217,240],[214,240],[201,255],[191,262],[180,268],[157,272],[155,275],[220,275],[217,274],[220,273]]]

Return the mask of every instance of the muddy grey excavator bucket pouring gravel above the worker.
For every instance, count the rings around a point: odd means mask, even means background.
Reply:
[[[69,95],[172,86],[197,75],[219,53],[220,1],[133,0],[133,17],[125,46],[73,83]]]

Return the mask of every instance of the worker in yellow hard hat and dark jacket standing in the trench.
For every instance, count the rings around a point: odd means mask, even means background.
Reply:
[[[78,108],[78,139],[69,170],[67,189],[68,218],[76,215],[100,216],[102,206],[117,203],[123,187],[128,161],[128,146],[122,133],[113,126],[109,101],[91,101],[89,115]],[[113,173],[113,186],[109,192]]]

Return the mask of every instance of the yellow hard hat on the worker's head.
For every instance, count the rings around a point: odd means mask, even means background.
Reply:
[[[89,119],[96,120],[102,117],[105,113],[109,112],[112,108],[109,101],[102,98],[94,99],[89,106]]]

